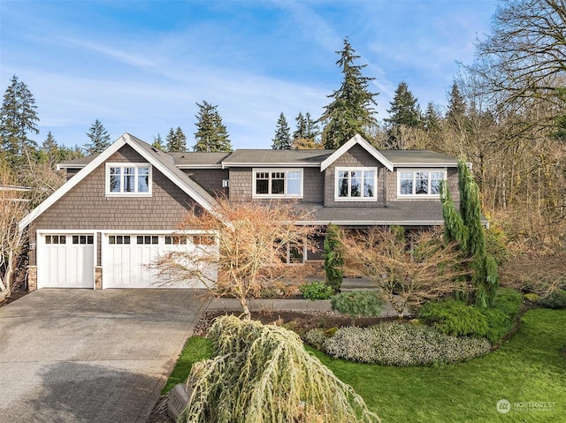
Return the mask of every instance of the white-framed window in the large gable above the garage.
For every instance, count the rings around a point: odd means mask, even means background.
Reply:
[[[107,163],[106,195],[151,195],[148,163]]]

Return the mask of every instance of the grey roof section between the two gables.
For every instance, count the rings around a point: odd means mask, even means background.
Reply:
[[[278,166],[317,168],[334,150],[268,150],[241,149],[228,155],[222,162],[223,168]]]

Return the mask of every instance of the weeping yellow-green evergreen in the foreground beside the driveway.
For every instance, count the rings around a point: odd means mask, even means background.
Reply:
[[[193,366],[192,392],[178,422],[380,421],[290,330],[224,316],[209,337],[215,358]]]

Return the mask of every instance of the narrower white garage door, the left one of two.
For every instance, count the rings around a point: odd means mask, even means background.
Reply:
[[[94,234],[39,233],[37,287],[94,288]]]

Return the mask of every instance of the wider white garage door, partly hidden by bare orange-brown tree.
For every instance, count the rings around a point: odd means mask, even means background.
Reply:
[[[103,288],[204,288],[199,280],[160,276],[158,257],[170,251],[195,253],[194,238],[163,234],[103,236]],[[216,271],[210,270],[216,277]]]

